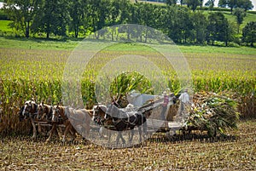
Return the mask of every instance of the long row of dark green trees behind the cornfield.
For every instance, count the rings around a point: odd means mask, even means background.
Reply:
[[[23,31],[26,37],[31,32],[45,33],[48,38],[51,34],[79,37],[126,23],[153,27],[176,43],[220,41],[227,45],[237,36],[235,24],[228,22],[222,13],[203,14],[183,6],[130,0],[8,0],[5,11],[13,20],[11,26]]]

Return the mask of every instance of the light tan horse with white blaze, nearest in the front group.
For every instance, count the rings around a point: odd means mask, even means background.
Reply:
[[[75,139],[76,130],[73,127],[73,125],[75,125],[75,127],[81,126],[83,128],[83,132],[82,132],[83,137],[85,138],[89,137],[90,116],[91,116],[90,111],[87,111],[85,109],[75,110],[73,108],[69,108],[67,106],[62,106],[62,105],[55,105],[52,110],[53,110],[53,116],[52,116],[53,128],[50,131],[49,138],[47,139],[47,141],[50,140],[54,128],[57,126],[57,124],[60,124],[60,123],[63,123],[66,126],[64,130],[62,142],[65,142],[68,132],[73,137],[71,141]],[[71,122],[73,123],[73,125],[71,124]]]

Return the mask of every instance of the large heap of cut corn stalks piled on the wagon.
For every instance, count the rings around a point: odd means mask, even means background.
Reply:
[[[193,97],[184,128],[206,130],[210,136],[224,134],[227,128],[237,128],[239,113],[236,101],[224,95],[201,92]]]

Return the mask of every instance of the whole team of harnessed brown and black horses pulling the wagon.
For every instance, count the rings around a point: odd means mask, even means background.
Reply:
[[[49,124],[49,137],[47,142],[51,140],[54,133],[58,134],[64,142],[67,134],[72,136],[72,140],[76,138],[76,134],[81,134],[85,139],[89,138],[90,122],[93,121],[99,126],[108,128],[110,130],[118,131],[116,143],[119,139],[125,143],[121,134],[124,130],[131,130],[130,140],[133,138],[134,128],[138,127],[140,134],[140,142],[143,136],[147,134],[146,117],[142,112],[132,112],[127,114],[127,117],[115,117],[109,113],[108,109],[113,108],[113,105],[94,105],[93,109],[73,109],[68,106],[62,105],[47,105],[43,102],[39,105],[34,100],[28,100],[20,108],[19,118],[20,121],[30,119],[32,123],[32,139],[35,139],[37,133],[42,132],[42,125]],[[38,124],[38,128],[37,128]],[[60,134],[59,126],[64,126],[64,133]],[[143,132],[142,132],[143,131]]]

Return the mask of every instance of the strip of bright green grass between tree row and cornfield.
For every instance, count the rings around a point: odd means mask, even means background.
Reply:
[[[79,45],[79,42],[82,39],[76,40],[47,40],[40,38],[12,38],[12,37],[0,37],[1,48],[16,48],[16,49],[42,49],[42,50],[70,50],[72,51]],[[88,46],[91,48],[95,47],[96,43],[89,43]],[[137,46],[133,46],[134,50],[141,50],[141,47],[138,49]],[[200,45],[177,45],[177,48],[183,54],[246,54],[246,55],[255,55],[256,48],[249,47],[218,47],[218,46],[200,46]],[[120,48],[125,50],[125,48]],[[112,50],[119,50],[113,49]],[[131,49],[131,46],[129,47]],[[203,57],[203,56],[202,56]]]

